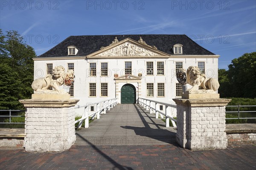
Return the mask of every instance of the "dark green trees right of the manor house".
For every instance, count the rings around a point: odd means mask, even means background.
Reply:
[[[233,59],[228,70],[219,69],[221,97],[256,97],[256,52]]]

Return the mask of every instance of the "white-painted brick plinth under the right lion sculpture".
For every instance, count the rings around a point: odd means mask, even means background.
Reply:
[[[231,99],[173,99],[177,104],[176,141],[191,150],[227,148],[225,106]]]

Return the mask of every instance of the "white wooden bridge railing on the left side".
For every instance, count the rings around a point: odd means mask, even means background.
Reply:
[[[102,102],[90,103],[85,106],[79,106],[79,108],[84,107],[84,113],[80,119],[75,121],[75,124],[79,122],[77,127],[80,128],[82,126],[83,121],[85,121],[84,127],[88,128],[89,117],[92,117],[92,119],[94,119],[95,117],[99,119],[101,114],[105,114],[106,111],[109,111],[111,108],[115,107],[116,104],[117,104],[117,98],[113,98],[113,99],[104,100]],[[89,113],[90,106],[94,106],[93,113]]]

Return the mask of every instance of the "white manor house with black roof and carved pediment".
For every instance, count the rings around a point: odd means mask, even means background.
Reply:
[[[34,58],[34,79],[58,65],[73,69],[70,96],[79,106],[113,98],[137,103],[139,97],[175,104],[182,94],[176,71],[194,65],[218,79],[218,57],[184,34],[70,36]]]

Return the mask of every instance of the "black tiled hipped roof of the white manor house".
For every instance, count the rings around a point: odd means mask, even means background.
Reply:
[[[201,47],[185,34],[142,34],[142,35],[81,35],[70,36],[64,41],[38,57],[67,57],[67,47],[76,46],[79,51],[77,56],[86,56],[106,47],[117,37],[119,41],[131,38],[138,41],[142,37],[148,45],[156,46],[157,50],[173,55],[172,47],[175,44],[183,45],[183,55],[215,55]]]

